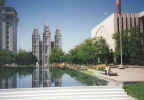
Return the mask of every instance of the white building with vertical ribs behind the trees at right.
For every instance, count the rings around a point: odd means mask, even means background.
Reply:
[[[130,30],[139,27],[140,32],[144,34],[144,11],[140,13],[114,13],[106,18],[91,31],[91,37],[103,37],[110,49],[115,51],[115,40],[112,38],[114,33]],[[141,39],[144,46],[144,38]]]

